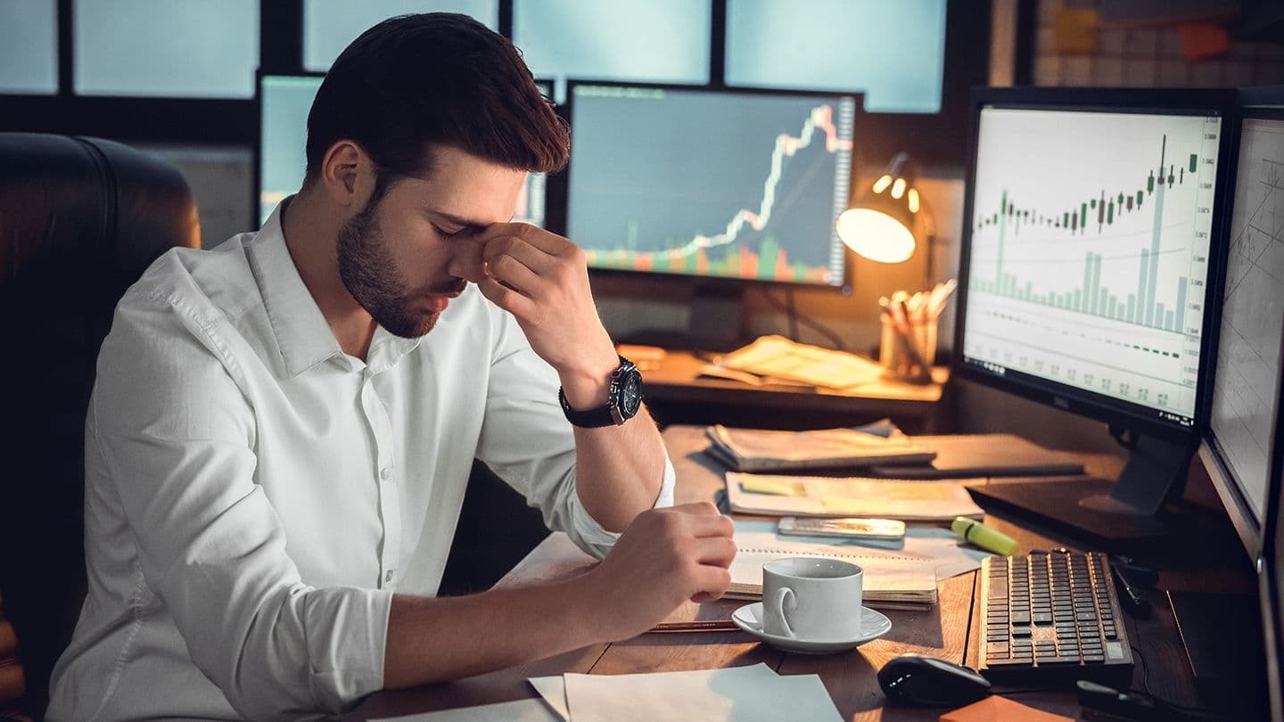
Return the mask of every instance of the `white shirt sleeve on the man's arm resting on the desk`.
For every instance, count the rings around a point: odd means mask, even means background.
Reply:
[[[232,355],[167,299],[122,303],[86,423],[136,538],[140,604],[163,603],[243,716],[340,712],[383,686],[389,591],[313,588],[256,483],[256,421]],[[154,595],[154,596],[153,596]]]

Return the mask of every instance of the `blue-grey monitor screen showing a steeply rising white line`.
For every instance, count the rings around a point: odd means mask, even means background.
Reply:
[[[841,286],[856,96],[571,82],[566,231],[594,269]]]

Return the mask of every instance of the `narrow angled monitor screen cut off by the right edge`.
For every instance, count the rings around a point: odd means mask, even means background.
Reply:
[[[1201,456],[1251,554],[1266,509],[1284,330],[1284,110],[1245,110]]]

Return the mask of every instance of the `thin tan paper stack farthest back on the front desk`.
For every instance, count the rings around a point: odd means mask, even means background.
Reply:
[[[936,453],[905,436],[881,437],[854,429],[774,432],[705,429],[709,452],[736,471],[863,468],[874,464],[927,464]]]

